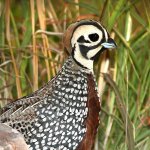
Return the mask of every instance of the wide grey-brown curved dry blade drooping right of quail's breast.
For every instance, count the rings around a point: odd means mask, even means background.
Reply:
[[[111,77],[108,74],[103,74],[105,81],[110,84],[110,86],[113,88],[115,95],[116,95],[116,104],[119,109],[119,112],[122,116],[123,122],[124,122],[124,129],[127,129],[127,145],[129,150],[135,149],[135,143],[134,143],[134,137],[133,137],[133,126],[132,122],[128,116],[128,113],[126,111],[125,104],[123,102],[123,98],[120,94],[120,91],[116,85],[116,83],[111,79]]]

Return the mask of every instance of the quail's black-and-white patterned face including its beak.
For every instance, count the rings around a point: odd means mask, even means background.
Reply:
[[[100,23],[89,21],[75,28],[71,46],[74,60],[82,67],[92,70],[95,56],[104,48],[115,48],[116,44]]]

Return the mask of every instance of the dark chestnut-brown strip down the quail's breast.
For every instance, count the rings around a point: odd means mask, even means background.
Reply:
[[[99,125],[100,101],[95,89],[93,75],[88,75],[88,117],[85,120],[87,132],[77,150],[92,150]]]

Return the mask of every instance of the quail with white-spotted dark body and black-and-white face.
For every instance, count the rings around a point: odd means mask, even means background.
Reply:
[[[64,46],[71,55],[56,77],[1,112],[1,122],[20,131],[30,150],[91,150],[94,145],[100,100],[93,61],[116,44],[99,22],[81,20],[65,32]]]

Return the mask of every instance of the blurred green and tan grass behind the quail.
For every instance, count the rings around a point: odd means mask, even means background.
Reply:
[[[84,18],[99,20],[118,45],[95,65],[102,103],[95,150],[149,150],[149,0],[0,0],[0,105],[56,75],[67,58],[61,34]]]

